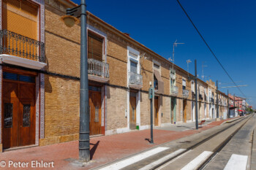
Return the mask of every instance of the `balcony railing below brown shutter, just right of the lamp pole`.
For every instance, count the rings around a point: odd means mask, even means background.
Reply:
[[[109,78],[108,63],[97,61],[93,58],[88,58],[88,74]]]

